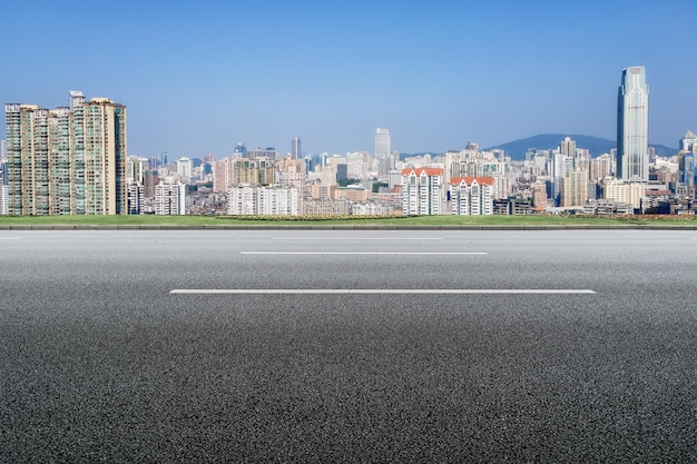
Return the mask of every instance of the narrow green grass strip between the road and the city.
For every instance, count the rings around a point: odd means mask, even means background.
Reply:
[[[685,216],[410,216],[390,218],[247,218],[213,216],[0,216],[3,226],[697,226]]]

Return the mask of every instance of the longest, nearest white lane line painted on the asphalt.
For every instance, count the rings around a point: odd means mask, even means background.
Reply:
[[[189,295],[343,295],[343,294],[418,294],[418,295],[591,295],[589,289],[558,288],[175,288],[170,294]]]

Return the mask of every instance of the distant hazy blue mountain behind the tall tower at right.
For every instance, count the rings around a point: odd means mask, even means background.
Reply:
[[[530,148],[551,150],[557,148],[565,137],[570,137],[572,140],[576,140],[577,148],[588,148],[592,157],[609,154],[612,148],[617,147],[616,140],[601,139],[598,137],[581,136],[578,134],[542,134],[489,148],[505,150],[505,154],[510,156],[511,159],[522,160],[526,159],[526,151]],[[651,147],[656,148],[658,156],[673,156],[678,152],[677,148],[662,145],[651,145]]]

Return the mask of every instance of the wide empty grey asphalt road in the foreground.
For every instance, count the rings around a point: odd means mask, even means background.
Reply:
[[[0,231],[0,462],[697,462],[696,258],[688,230]]]

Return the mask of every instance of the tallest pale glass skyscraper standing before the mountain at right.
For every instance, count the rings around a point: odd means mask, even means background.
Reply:
[[[617,99],[617,174],[622,180],[649,179],[649,88],[646,69],[622,71]]]

